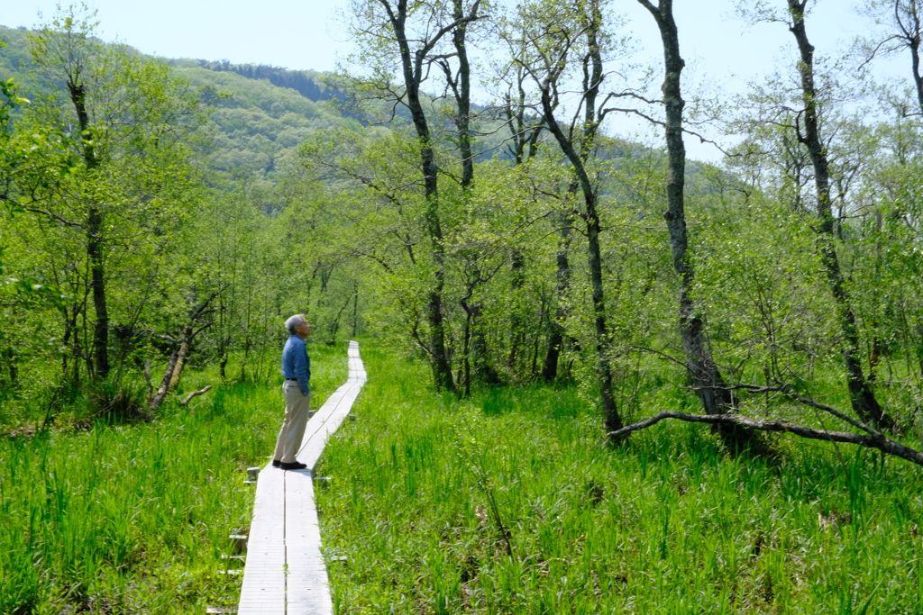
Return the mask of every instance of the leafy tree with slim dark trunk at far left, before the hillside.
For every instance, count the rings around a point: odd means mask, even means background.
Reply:
[[[184,217],[196,193],[181,141],[198,124],[198,101],[169,67],[97,41],[92,18],[70,7],[30,36],[36,72],[53,88],[31,105],[22,130],[54,136],[68,166],[54,183],[47,171],[21,177],[17,195],[28,196],[20,205],[43,224],[82,236],[93,324],[88,362],[92,377],[103,380],[113,367],[110,266],[133,251],[156,251]],[[66,339],[78,313],[89,316],[79,300],[66,310]]]

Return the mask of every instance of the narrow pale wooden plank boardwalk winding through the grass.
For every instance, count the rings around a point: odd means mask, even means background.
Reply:
[[[307,421],[297,455],[307,469],[284,471],[267,464],[260,471],[238,615],[332,615],[314,505],[314,468],[327,438],[346,419],[365,383],[359,345],[350,342],[346,384]]]

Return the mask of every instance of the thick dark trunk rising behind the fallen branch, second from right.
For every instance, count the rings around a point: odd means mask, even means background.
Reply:
[[[666,115],[667,178],[664,214],[673,253],[673,267],[679,277],[679,335],[686,354],[686,366],[693,384],[699,391],[706,414],[726,414],[733,409],[733,398],[725,384],[712,353],[705,342],[704,323],[692,299],[695,270],[689,258],[689,235],[686,229],[685,176],[686,148],[683,145],[683,107],[680,73],[686,63],[679,54],[677,24],[673,18],[673,1],[660,0],[653,6],[639,0],[657,22],[664,44],[664,107]],[[735,429],[731,427],[730,429]]]

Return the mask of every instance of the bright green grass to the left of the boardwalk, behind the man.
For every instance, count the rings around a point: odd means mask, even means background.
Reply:
[[[346,379],[345,345],[312,347],[319,405]],[[201,613],[231,606],[228,536],[246,531],[244,469],[267,463],[279,382],[216,386],[151,423],[0,438],[0,613]],[[184,375],[187,390],[214,373]],[[241,567],[232,563],[232,568]]]

